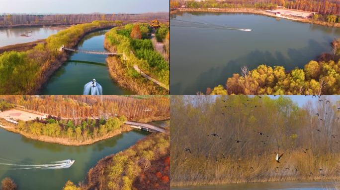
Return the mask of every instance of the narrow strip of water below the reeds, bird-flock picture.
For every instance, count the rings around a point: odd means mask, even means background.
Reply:
[[[177,187],[171,190],[335,190],[335,182],[263,182],[220,186]]]

